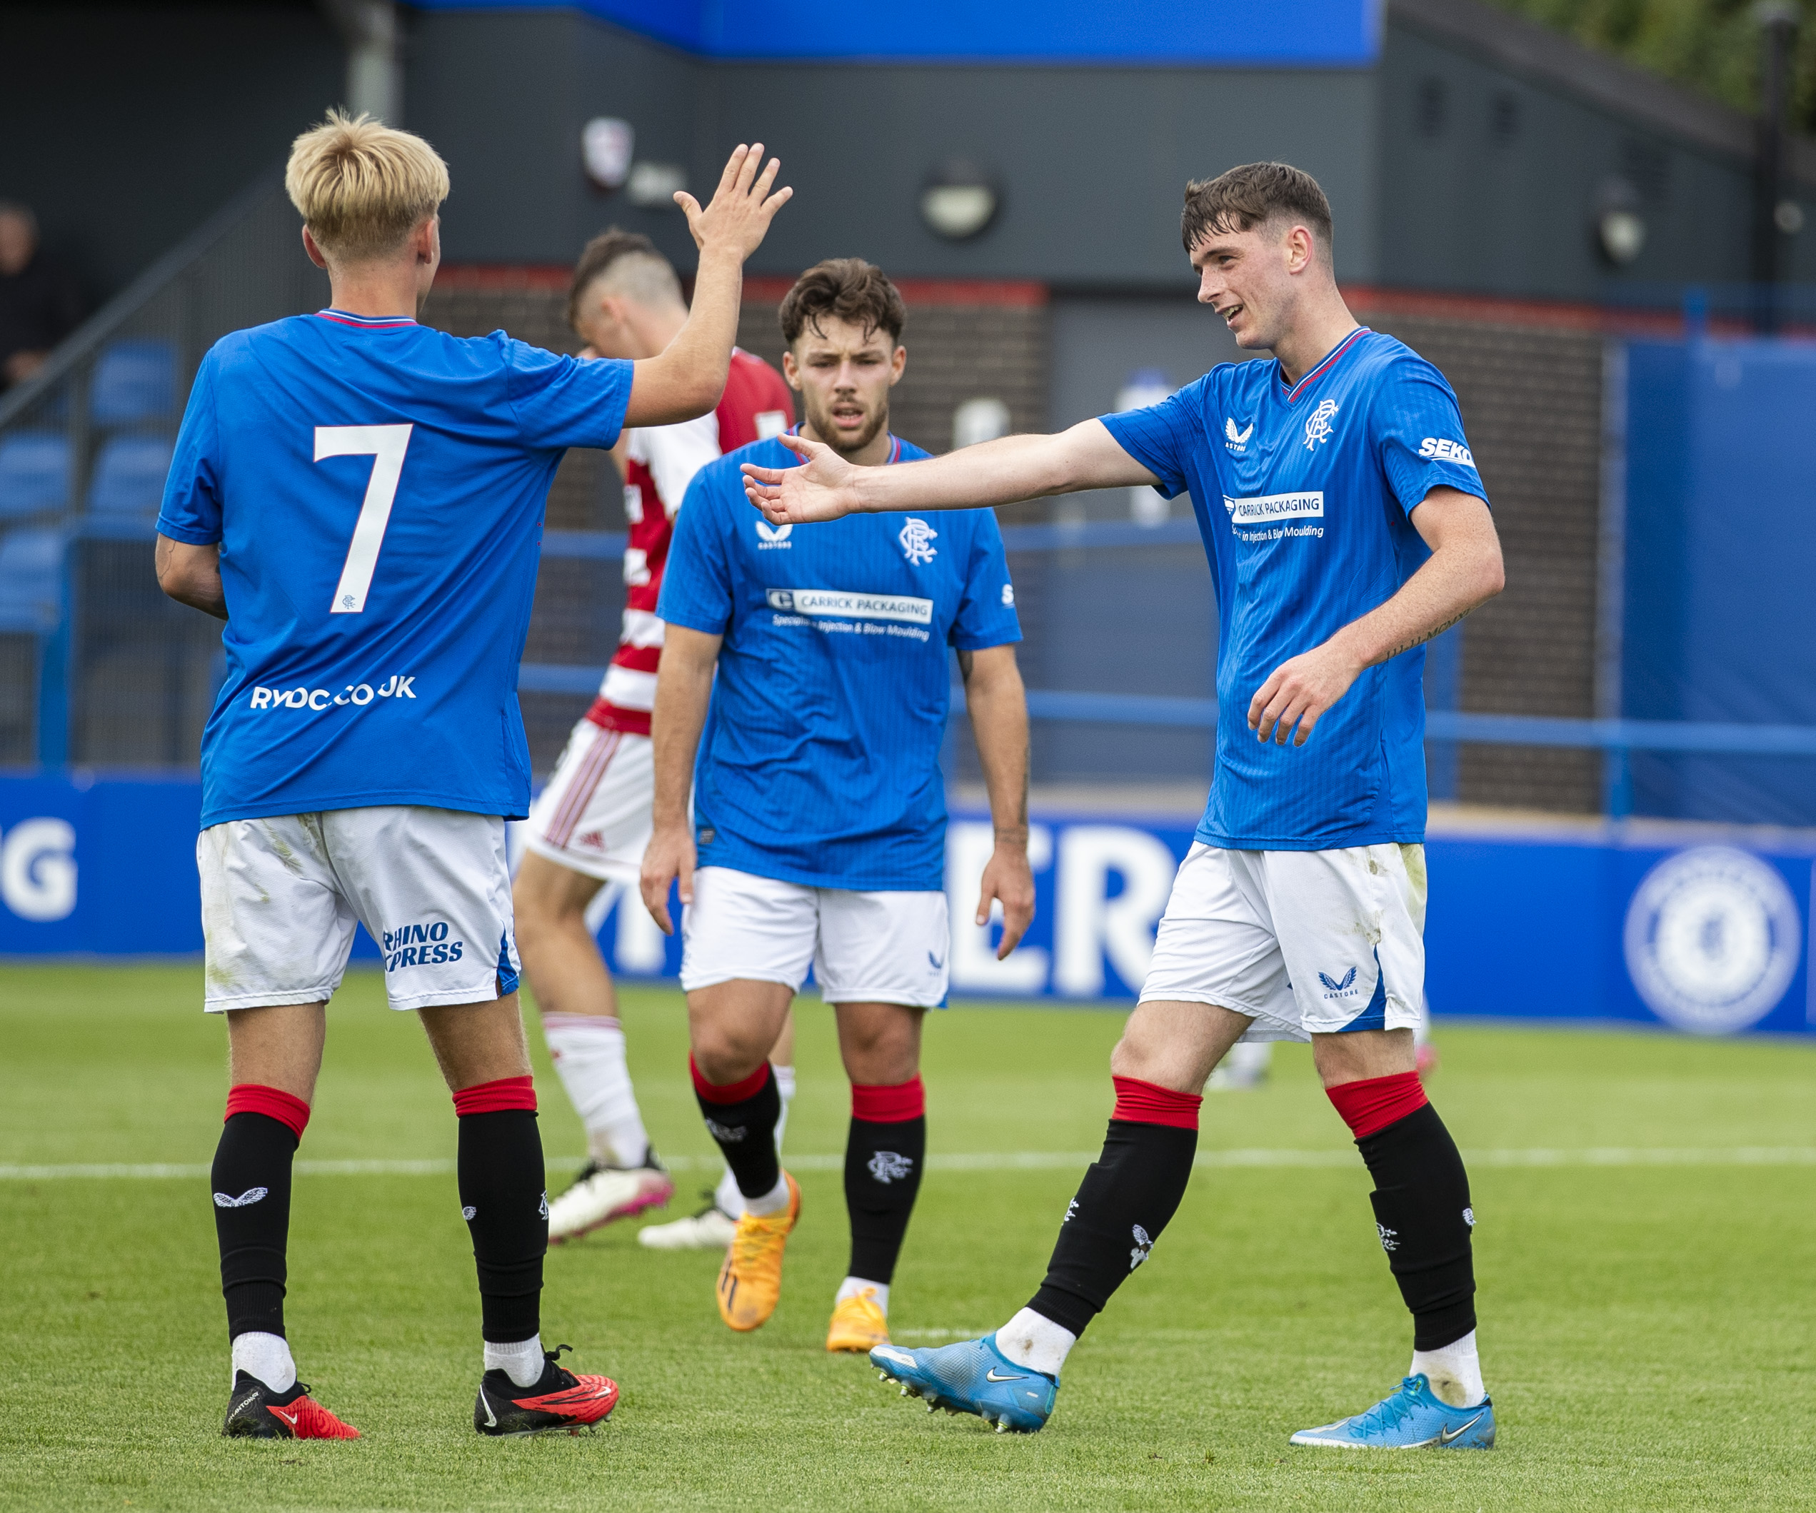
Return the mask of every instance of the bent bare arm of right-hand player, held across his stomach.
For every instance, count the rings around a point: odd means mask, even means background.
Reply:
[[[1433,489],[1413,510],[1413,527],[1431,547],[1431,558],[1387,603],[1268,676],[1249,699],[1249,730],[1257,739],[1284,747],[1293,736],[1295,747],[1306,745],[1318,717],[1349,692],[1364,667],[1449,630],[1502,590],[1507,578],[1495,518],[1475,494]]]

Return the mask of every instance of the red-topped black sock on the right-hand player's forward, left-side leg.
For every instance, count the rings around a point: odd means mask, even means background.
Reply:
[[[1117,1108],[1104,1152],[1084,1173],[1066,1210],[1028,1308],[1082,1335],[1110,1295],[1148,1259],[1191,1181],[1199,1150],[1195,1093],[1115,1077]]]

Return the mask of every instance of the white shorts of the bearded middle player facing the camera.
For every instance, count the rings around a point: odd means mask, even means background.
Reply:
[[[943,1008],[952,932],[943,892],[857,894],[703,866],[681,912],[681,986],[786,983],[808,964],[826,1003]]]

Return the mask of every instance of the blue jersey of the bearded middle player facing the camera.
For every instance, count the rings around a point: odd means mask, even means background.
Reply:
[[[892,443],[890,461],[924,458]],[[725,636],[694,768],[701,866],[819,888],[944,886],[948,647],[1021,639],[993,510],[770,525],[739,463],[686,492],[656,614]]]

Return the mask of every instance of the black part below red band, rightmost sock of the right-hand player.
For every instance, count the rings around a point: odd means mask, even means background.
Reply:
[[[1475,1324],[1469,1173],[1427,1103],[1357,1141],[1375,1192],[1375,1228],[1413,1315],[1413,1350],[1440,1350]]]

